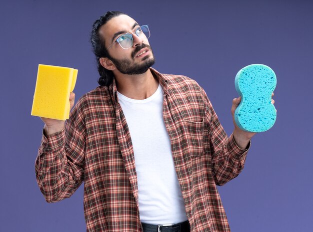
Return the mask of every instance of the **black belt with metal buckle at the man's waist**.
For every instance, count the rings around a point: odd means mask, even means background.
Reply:
[[[189,222],[177,224],[152,225],[141,223],[143,232],[190,232]]]

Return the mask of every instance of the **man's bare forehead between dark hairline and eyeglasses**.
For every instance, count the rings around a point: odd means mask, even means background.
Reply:
[[[105,44],[111,42],[113,35],[118,31],[128,32],[136,21],[125,14],[120,14],[108,20],[99,29],[99,34],[104,38]]]

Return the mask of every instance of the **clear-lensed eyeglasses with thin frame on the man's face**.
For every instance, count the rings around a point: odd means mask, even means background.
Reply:
[[[136,28],[135,32],[127,32],[119,36],[108,48],[110,48],[115,42],[117,42],[123,49],[128,49],[133,44],[133,37],[132,35],[136,34],[141,39],[148,39],[150,37],[150,31],[148,25],[142,25]],[[108,49],[107,48],[107,49]],[[107,49],[105,51],[107,51]]]

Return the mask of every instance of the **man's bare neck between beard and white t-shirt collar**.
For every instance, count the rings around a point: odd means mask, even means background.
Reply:
[[[142,100],[150,97],[158,87],[158,81],[153,77],[150,69],[137,75],[114,73],[117,91],[122,95]]]

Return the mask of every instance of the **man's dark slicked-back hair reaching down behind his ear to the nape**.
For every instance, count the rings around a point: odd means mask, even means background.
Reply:
[[[124,14],[120,11],[107,11],[105,14],[101,15],[92,25],[92,31],[90,36],[90,42],[92,45],[92,51],[95,55],[98,72],[100,77],[98,79],[99,85],[108,86],[112,83],[114,75],[111,70],[104,68],[101,64],[99,59],[101,57],[108,57],[110,58],[109,54],[106,52],[106,48],[104,45],[104,39],[99,34],[99,28],[104,25],[108,20],[113,17],[116,17],[120,14]]]

